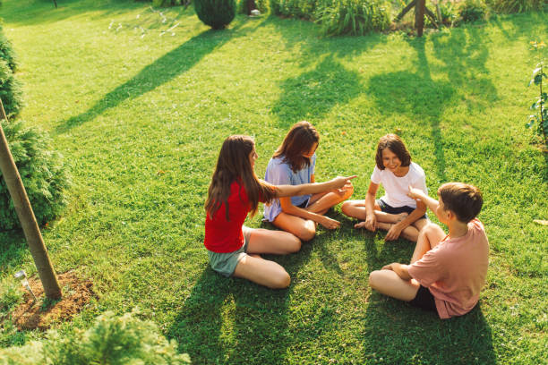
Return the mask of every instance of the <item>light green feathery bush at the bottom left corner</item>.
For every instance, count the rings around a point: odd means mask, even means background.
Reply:
[[[89,364],[188,364],[187,354],[177,353],[175,341],[167,341],[158,327],[133,313],[99,316],[87,331],[76,329],[63,337],[55,331],[44,342],[0,350],[0,365]]]

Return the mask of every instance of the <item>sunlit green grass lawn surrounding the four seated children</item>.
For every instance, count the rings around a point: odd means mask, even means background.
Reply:
[[[148,4],[3,3],[22,118],[50,133],[73,174],[71,204],[44,239],[56,270],[90,277],[99,294],[61,331],[139,307],[195,363],[545,361],[548,229],[533,219],[548,219],[548,165],[524,126],[535,97],[529,41],[548,40],[545,13],[424,38],[321,38],[313,23],[276,17],[212,31],[191,6],[164,12],[180,23],[160,36],[167,25]],[[397,129],[431,194],[449,181],[481,188],[491,261],[475,310],[441,321],[372,293],[369,272],[406,262],[413,245],[355,231],[339,208],[330,216],[340,229],[267,256],[292,277],[287,290],[210,269],[202,207],[222,140],[254,136],[263,175],[300,120],[321,133],[317,180],[357,174],[355,199],[377,140]],[[247,225],[272,228],[261,215]],[[36,272],[21,233],[0,242],[0,279]],[[0,344],[42,335],[4,324]]]

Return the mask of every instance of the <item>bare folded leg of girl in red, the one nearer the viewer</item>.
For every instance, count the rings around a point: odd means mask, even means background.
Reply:
[[[291,277],[284,267],[274,261],[250,255],[240,259],[233,276],[242,277],[270,289],[287,288],[291,283]]]

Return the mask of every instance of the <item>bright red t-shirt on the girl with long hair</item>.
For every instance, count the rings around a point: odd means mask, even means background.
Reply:
[[[233,182],[230,185],[230,196],[227,202],[230,221],[227,221],[225,203],[218,208],[213,218],[209,214],[206,216],[203,244],[206,249],[213,252],[232,252],[240,249],[244,244],[242,225],[244,225],[247,213],[251,210],[244,185],[240,185],[236,181]]]

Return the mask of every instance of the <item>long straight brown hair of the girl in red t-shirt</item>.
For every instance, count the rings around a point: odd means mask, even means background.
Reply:
[[[255,142],[249,136],[234,135],[227,137],[218,154],[217,167],[211,178],[205,209],[212,218],[218,208],[225,203],[228,220],[228,197],[230,185],[237,180],[244,185],[249,199],[252,216],[257,213],[259,200],[270,202],[277,197],[276,188],[260,181],[253,171],[249,155]],[[241,197],[241,196],[240,196]]]

